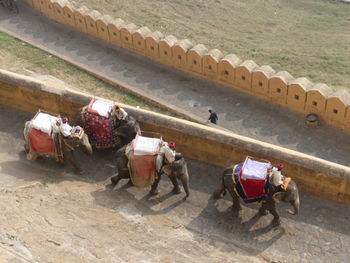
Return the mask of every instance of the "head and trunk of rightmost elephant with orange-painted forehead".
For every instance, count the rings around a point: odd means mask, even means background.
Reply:
[[[297,184],[291,180],[284,192],[277,192],[273,195],[275,200],[290,203],[293,210],[287,210],[288,213],[296,215],[299,213],[300,200],[299,200],[299,190]]]

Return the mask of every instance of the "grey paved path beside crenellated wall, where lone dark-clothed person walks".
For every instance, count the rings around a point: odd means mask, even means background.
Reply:
[[[219,128],[350,165],[350,135],[343,131],[309,128],[303,115],[149,61],[63,27],[21,1],[18,5],[17,16],[0,9],[0,30],[193,120],[204,122],[213,108]]]

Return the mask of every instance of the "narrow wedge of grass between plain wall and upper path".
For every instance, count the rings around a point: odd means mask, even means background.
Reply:
[[[19,61],[25,62],[25,68],[42,75],[52,75],[65,81],[73,88],[90,93],[95,96],[105,97],[124,104],[140,106],[151,111],[176,116],[174,113],[167,112],[157,106],[142,100],[141,98],[122,91],[112,85],[109,85],[100,79],[80,70],[79,68],[59,59],[45,51],[28,45],[16,38],[0,32],[0,49],[7,51]],[[20,63],[21,63],[20,62]],[[13,65],[14,61],[8,61]],[[19,73],[22,73],[22,67],[19,63]]]

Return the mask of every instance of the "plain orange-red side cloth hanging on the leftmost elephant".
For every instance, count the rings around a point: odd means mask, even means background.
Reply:
[[[55,154],[55,143],[50,135],[31,128],[28,134],[31,150],[41,154]]]

